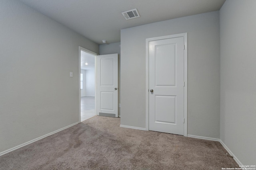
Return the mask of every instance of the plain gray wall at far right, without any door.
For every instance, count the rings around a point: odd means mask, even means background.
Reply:
[[[220,140],[244,165],[256,161],[256,1],[220,10]]]

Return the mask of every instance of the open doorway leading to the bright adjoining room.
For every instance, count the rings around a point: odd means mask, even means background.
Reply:
[[[96,56],[79,47],[79,119],[84,121],[96,115]]]

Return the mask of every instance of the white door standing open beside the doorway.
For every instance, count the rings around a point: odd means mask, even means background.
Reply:
[[[118,54],[97,56],[97,115],[118,117]]]

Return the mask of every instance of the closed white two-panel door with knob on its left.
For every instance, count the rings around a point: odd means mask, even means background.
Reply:
[[[149,130],[183,135],[184,37],[149,42]]]

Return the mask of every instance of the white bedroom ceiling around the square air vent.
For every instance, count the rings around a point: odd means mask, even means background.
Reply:
[[[120,42],[120,29],[220,10],[225,0],[19,0],[97,44]],[[121,12],[138,9],[140,18]]]

